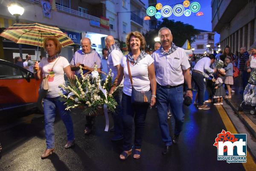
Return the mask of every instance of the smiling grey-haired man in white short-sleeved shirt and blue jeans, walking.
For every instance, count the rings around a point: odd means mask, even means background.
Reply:
[[[157,112],[162,139],[165,142],[163,155],[168,154],[172,143],[177,143],[184,123],[183,84],[187,84],[186,96],[192,99],[190,64],[184,49],[172,42],[172,32],[163,27],[158,32],[162,46],[152,54],[157,80]],[[175,135],[169,133],[167,109],[170,105],[175,118]]]

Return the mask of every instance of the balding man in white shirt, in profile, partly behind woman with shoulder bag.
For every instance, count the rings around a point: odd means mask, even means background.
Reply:
[[[113,78],[113,82],[116,79],[117,71],[120,67],[120,61],[123,56],[122,51],[116,45],[113,36],[107,36],[105,39],[106,48],[108,49],[108,72],[111,69],[111,76]],[[122,84],[122,83],[121,83]],[[122,89],[123,87],[119,87],[114,93],[113,97],[117,102],[116,111],[112,113],[113,121],[114,121],[114,130],[115,136],[111,139],[112,141],[117,141],[123,139],[123,126],[122,126],[122,117],[121,117],[121,100],[122,100]]]

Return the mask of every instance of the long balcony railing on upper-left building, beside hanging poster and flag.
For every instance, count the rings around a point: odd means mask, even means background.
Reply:
[[[29,1],[31,3],[37,3],[37,4],[41,5],[41,0],[25,0],[25,1]],[[70,9],[70,8],[67,8],[67,7],[58,5],[58,4],[56,4],[56,9],[58,11],[65,12],[67,14],[72,14],[72,15],[75,15],[77,17],[82,17],[82,18],[86,18],[88,20],[94,20],[94,21],[99,21],[100,22],[100,18],[99,17],[94,17],[94,16],[89,15],[89,14],[84,14],[82,12],[79,12],[79,11],[76,11],[74,9]]]

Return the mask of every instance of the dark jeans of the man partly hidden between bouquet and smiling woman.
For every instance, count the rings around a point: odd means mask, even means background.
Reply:
[[[123,135],[123,126],[122,126],[122,90],[123,87],[119,87],[113,94],[114,99],[117,102],[116,110],[112,113],[115,135],[122,136]]]

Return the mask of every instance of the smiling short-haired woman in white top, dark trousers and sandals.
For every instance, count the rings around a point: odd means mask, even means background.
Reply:
[[[145,127],[145,118],[148,105],[131,104],[131,81],[128,74],[127,59],[129,61],[133,87],[137,91],[148,91],[151,89],[152,97],[150,106],[156,102],[156,78],[154,70],[154,60],[145,53],[145,38],[140,32],[130,32],[126,37],[128,55],[122,57],[120,68],[114,85],[119,85],[125,75],[124,88],[122,94],[122,121],[124,129],[123,152],[120,159],[125,160],[132,153],[132,128],[135,124],[134,138],[134,159],[140,158],[141,142]],[[113,89],[115,87],[112,87]],[[149,99],[148,99],[149,100]]]

